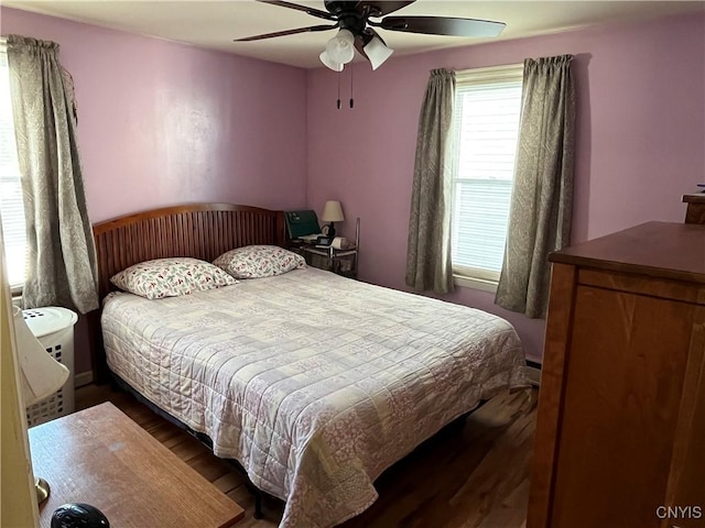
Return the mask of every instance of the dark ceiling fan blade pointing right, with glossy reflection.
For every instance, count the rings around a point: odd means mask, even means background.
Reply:
[[[448,36],[497,36],[503,22],[490,20],[455,19],[452,16],[387,16],[379,25],[383,30],[406,33],[426,33]]]

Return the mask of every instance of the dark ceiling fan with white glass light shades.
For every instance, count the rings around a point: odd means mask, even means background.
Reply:
[[[394,11],[414,3],[415,0],[324,0],[323,3],[326,11],[292,2],[274,0],[258,1],[303,11],[306,14],[327,20],[332,23],[247,36],[245,38],[236,38],[235,42],[260,41],[275,36],[338,29],[336,36],[328,41],[325,51],[321,54],[321,62],[335,72],[341,72],[344,66],[352,61],[356,50],[370,62],[372,69],[377,69],[391,56],[394,51],[387,46],[387,43],[384,43],[384,40],[377,33],[375,28],[388,31],[402,31],[405,33],[478,37],[497,36],[506,25],[503,22],[452,16],[387,16]],[[372,20],[379,18],[382,19],[379,21]]]

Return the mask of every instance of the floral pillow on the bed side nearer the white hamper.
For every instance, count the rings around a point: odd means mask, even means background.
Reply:
[[[176,297],[236,284],[219,267],[189,257],[140,262],[110,277],[118,288],[148,299]]]

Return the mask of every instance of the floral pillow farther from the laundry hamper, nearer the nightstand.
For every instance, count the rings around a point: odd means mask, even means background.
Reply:
[[[230,250],[213,263],[235,278],[261,278],[306,267],[303,256],[276,245],[247,245]]]

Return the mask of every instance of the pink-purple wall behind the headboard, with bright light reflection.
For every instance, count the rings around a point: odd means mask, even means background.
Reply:
[[[194,201],[305,205],[305,70],[7,8],[0,31],[61,44],[91,221]],[[90,370],[83,318],[75,356]]]

